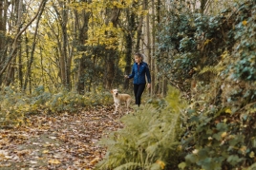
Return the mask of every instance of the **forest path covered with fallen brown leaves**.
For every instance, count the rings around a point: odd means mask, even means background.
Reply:
[[[32,115],[28,124],[0,129],[0,169],[93,169],[105,155],[96,145],[106,131],[122,128],[113,106],[77,113]]]

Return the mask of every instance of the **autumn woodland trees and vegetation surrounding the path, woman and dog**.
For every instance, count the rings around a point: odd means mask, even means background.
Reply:
[[[152,88],[96,167],[254,169],[255,13],[254,0],[1,0],[1,127],[132,94],[140,51]]]

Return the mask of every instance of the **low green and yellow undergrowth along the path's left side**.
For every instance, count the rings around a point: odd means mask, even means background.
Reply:
[[[57,114],[76,112],[84,107],[100,104],[112,104],[109,92],[86,93],[79,95],[65,89],[58,93],[44,90],[44,86],[35,88],[31,95],[8,86],[0,94],[0,126],[15,127],[26,123],[30,114]]]

